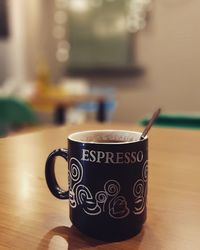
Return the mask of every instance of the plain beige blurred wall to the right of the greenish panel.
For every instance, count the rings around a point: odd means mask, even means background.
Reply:
[[[116,120],[152,112],[200,112],[200,1],[154,0],[147,27],[137,34],[143,79],[119,88]],[[135,86],[134,86],[135,83]]]

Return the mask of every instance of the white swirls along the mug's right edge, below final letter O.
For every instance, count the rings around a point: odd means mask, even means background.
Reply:
[[[135,182],[133,186],[133,196],[135,197],[133,213],[141,214],[146,206],[147,193],[148,162],[146,161],[142,168],[142,179]]]

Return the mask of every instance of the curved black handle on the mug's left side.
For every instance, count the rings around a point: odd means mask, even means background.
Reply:
[[[69,199],[69,191],[63,190],[55,176],[55,159],[57,156],[61,156],[66,161],[68,161],[68,150],[64,148],[59,148],[50,153],[47,158],[45,165],[45,177],[49,190],[58,199],[64,200]]]

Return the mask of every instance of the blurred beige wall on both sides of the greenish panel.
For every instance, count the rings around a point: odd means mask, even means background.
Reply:
[[[55,59],[54,3],[8,0],[11,35],[0,41],[0,83],[7,77],[33,80],[35,65],[46,57],[52,79],[63,70]],[[101,79],[117,87],[115,120],[132,122],[157,106],[166,111],[200,110],[200,1],[153,0],[146,28],[134,43],[140,79]]]

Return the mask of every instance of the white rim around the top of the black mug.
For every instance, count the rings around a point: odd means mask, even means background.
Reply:
[[[126,134],[132,134],[132,135],[137,135],[138,139],[130,140],[130,141],[121,141],[121,142],[97,142],[97,141],[87,141],[87,140],[81,140],[81,139],[76,139],[73,138],[74,136],[79,136],[83,134],[102,134],[102,133],[126,133]],[[140,131],[134,131],[134,130],[123,130],[123,129],[95,129],[95,130],[83,130],[79,132],[74,132],[68,135],[67,139],[72,141],[72,142],[77,142],[77,143],[83,143],[83,144],[100,144],[100,145],[124,145],[124,144],[137,144],[141,143],[143,141],[148,140],[148,136],[146,135],[143,139],[139,140],[140,136],[142,135],[142,132]]]

